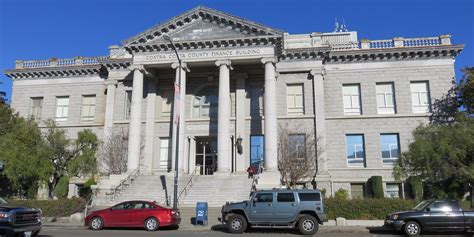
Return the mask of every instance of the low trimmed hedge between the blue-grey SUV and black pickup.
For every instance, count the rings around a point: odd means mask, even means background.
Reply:
[[[350,220],[380,220],[396,211],[415,207],[417,201],[404,199],[325,199],[324,208],[329,219],[344,217]]]

